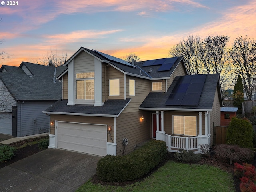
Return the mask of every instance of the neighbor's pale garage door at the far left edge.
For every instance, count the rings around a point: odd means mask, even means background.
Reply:
[[[12,135],[12,113],[0,112],[0,133]]]

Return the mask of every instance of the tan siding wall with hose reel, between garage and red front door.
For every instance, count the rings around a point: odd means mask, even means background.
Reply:
[[[140,117],[144,116],[144,120]],[[116,118],[116,154],[128,154],[134,150],[134,146],[150,139],[150,119],[148,111],[122,113]],[[123,138],[128,138],[128,145],[122,145]],[[124,150],[124,151],[123,151]]]

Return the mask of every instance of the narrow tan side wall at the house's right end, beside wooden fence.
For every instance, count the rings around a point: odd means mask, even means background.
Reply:
[[[213,144],[213,123],[216,126],[220,126],[220,100],[218,95],[218,88],[216,88],[214,101],[212,105],[212,112],[210,112],[210,135],[211,145]]]

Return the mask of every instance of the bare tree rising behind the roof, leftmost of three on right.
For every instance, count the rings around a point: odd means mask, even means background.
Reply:
[[[170,56],[183,56],[188,74],[202,74],[204,72],[204,63],[201,59],[202,39],[200,36],[188,36],[170,50]]]

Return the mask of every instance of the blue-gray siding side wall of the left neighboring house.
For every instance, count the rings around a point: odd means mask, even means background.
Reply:
[[[42,111],[56,101],[24,101],[17,106],[17,136],[49,132],[50,117]],[[36,120],[34,122],[34,119]]]

